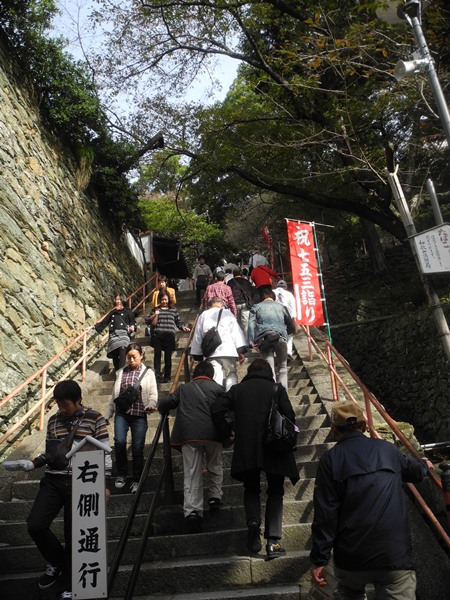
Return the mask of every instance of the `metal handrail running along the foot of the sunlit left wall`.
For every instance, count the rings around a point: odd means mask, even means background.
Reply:
[[[146,290],[148,288],[148,285],[151,284],[153,281],[155,282],[155,285],[157,285],[157,282],[158,282],[157,277],[158,277],[157,274],[153,275],[148,281],[146,281],[142,286],[140,286],[137,290],[135,290],[128,297],[128,305],[131,308],[132,303],[133,303],[133,298],[136,298],[136,296],[138,296],[138,295],[142,295],[142,299],[136,305],[133,306],[132,310],[136,310],[136,309],[140,308],[141,306],[142,306],[142,310],[145,310],[145,302],[149,298],[150,294],[152,294],[152,292],[155,288],[152,287],[151,291],[148,293],[146,292]],[[104,319],[109,314],[109,312],[111,312],[111,309],[109,309],[108,312],[106,312],[99,319],[97,319],[97,321],[95,323],[98,323],[99,321]],[[81,342],[81,348],[79,348],[78,351],[80,351],[80,349],[81,349],[81,355],[69,366],[69,368],[64,372],[64,374],[59,379],[66,379],[81,366],[81,380],[82,381],[85,380],[86,367],[88,365],[89,359],[92,357],[92,355],[95,352],[97,352],[99,350],[99,348],[104,344],[104,342],[108,338],[108,333],[105,333],[100,339],[96,339],[96,340],[91,339],[91,340],[89,340],[89,343],[88,343],[87,338],[88,338],[88,335],[92,333],[92,329],[93,329],[93,326],[90,326],[87,329],[85,329],[84,331],[82,331],[79,335],[77,335],[76,338],[74,338],[71,342],[69,342],[69,344],[64,346],[64,348],[62,350],[60,350],[47,363],[45,363],[44,366],[42,366],[35,373],[30,375],[27,379],[25,379],[25,381],[23,381],[14,390],[12,390],[12,392],[7,394],[2,400],[0,400],[0,408],[2,408],[3,406],[7,405],[18,394],[20,394],[20,392],[25,390],[25,388],[27,388],[30,384],[36,382],[37,380],[39,380],[39,378],[42,378],[41,383],[40,383],[41,392],[40,392],[39,399],[35,400],[33,402],[32,406],[25,412],[25,414],[22,415],[17,420],[17,422],[14,423],[14,425],[11,425],[11,427],[9,427],[5,431],[5,433],[3,433],[3,435],[0,436],[0,444],[5,442],[6,440],[8,440],[12,436],[12,434],[15,431],[17,431],[17,429],[19,429],[21,426],[23,426],[25,423],[29,423],[29,419],[32,418],[32,416],[35,415],[35,413],[37,413],[38,411],[39,411],[39,430],[40,431],[43,430],[44,420],[45,420],[45,408],[47,406],[48,400],[51,398],[51,396],[53,394],[53,387],[54,387],[54,386],[51,386],[50,389],[47,389],[49,369],[62,356],[67,354],[69,352],[69,350],[72,350],[79,342]]]

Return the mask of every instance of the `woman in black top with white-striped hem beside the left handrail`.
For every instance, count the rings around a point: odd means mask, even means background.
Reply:
[[[126,306],[126,301],[125,294],[117,293],[114,296],[112,311],[94,325],[97,333],[102,332],[109,325],[106,356],[112,359],[116,371],[125,366],[126,349],[137,328],[134,313]]]

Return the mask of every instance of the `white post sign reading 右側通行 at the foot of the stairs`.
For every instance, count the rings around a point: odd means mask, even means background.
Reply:
[[[86,444],[72,456],[72,597],[107,595],[105,452]]]

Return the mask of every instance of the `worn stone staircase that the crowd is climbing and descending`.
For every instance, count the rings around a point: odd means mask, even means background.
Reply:
[[[193,308],[194,294],[180,293],[177,308],[186,324],[193,323],[196,311]],[[143,331],[143,326],[141,331]],[[187,334],[180,334],[186,338]],[[145,345],[148,340],[139,338]],[[179,345],[184,342],[180,340]],[[213,600],[216,598],[266,599],[279,598],[294,600],[306,598],[310,587],[309,548],[310,525],[312,520],[312,494],[316,466],[322,454],[332,446],[328,411],[331,395],[327,389],[328,374],[325,367],[317,362],[306,363],[305,342],[301,335],[295,341],[295,360],[289,363],[289,395],[301,429],[296,460],[300,470],[300,481],[292,486],[285,484],[283,546],[285,557],[266,562],[265,554],[250,556],[247,550],[247,528],[243,509],[243,487],[231,479],[229,465],[232,449],[224,450],[224,506],[214,513],[205,512],[202,533],[184,533],[182,512],[182,461],[174,451],[173,470],[176,490],[176,504],[164,505],[157,509],[153,529],[148,539],[144,561],[140,568],[134,597],[160,600]],[[148,348],[146,362],[152,366],[151,349]],[[181,354],[181,351],[178,351]],[[249,359],[256,354],[249,354]],[[176,358],[174,356],[174,370]],[[239,380],[246,372],[248,362],[239,369]],[[305,365],[307,364],[307,368]],[[311,380],[311,378],[312,380]],[[89,372],[83,387],[85,405],[104,412],[109,400],[114,375],[109,361],[98,361]],[[312,383],[314,381],[314,384]],[[320,389],[320,395],[318,393]],[[160,385],[160,395],[169,393],[167,384]],[[149,417],[147,442],[150,444],[158,415]],[[170,418],[173,422],[173,418]],[[15,448],[8,458],[33,457],[42,448],[44,434],[27,438]],[[110,441],[113,443],[113,425],[110,425]],[[158,449],[151,468],[146,488],[138,508],[131,536],[126,547],[110,598],[119,599],[125,595],[132,570],[132,562],[137,553],[139,533],[142,530],[146,511],[152,499],[157,473],[161,466],[161,450]],[[54,600],[61,587],[54,586],[50,591],[40,592],[37,578],[45,563],[27,531],[25,519],[30,510],[42,473],[4,473],[0,476],[0,597],[8,600]],[[261,496],[264,500],[264,494]],[[128,489],[115,490],[107,505],[108,553],[113,556],[126,515],[133,496]],[[62,518],[54,523],[56,531],[62,535]],[[422,542],[421,542],[422,543]],[[433,544],[428,537],[427,545]],[[436,554],[432,554],[436,556]],[[448,569],[444,571],[447,575]],[[426,587],[426,586],[425,586]],[[369,594],[369,597],[372,597]],[[419,598],[419,596],[418,596]],[[420,596],[424,598],[424,596]],[[429,596],[430,600],[442,600],[444,596]]]

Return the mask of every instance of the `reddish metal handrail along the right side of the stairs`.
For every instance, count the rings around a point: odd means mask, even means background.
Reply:
[[[325,344],[326,351],[324,352],[322,350],[322,348],[319,346],[319,344],[317,343],[317,341],[314,339],[314,337],[311,335],[310,327],[307,327],[305,325],[301,325],[300,327],[303,330],[303,332],[305,333],[307,341],[308,341],[309,360],[312,361],[312,357],[313,357],[312,348],[314,348],[317,351],[318,355],[321,357],[321,359],[326,363],[326,365],[328,367],[328,370],[330,373],[333,401],[339,400],[339,385],[340,385],[342,390],[348,397],[348,399],[352,400],[353,402],[358,403],[358,400],[351,393],[351,391],[349,390],[348,386],[343,381],[342,377],[340,376],[340,374],[335,366],[334,359],[336,358],[338,360],[339,364],[341,365],[341,367],[344,367],[344,369],[347,371],[347,373],[350,375],[350,377],[353,379],[353,381],[356,383],[356,385],[360,388],[360,390],[363,393],[364,405],[365,405],[365,417],[367,419],[370,436],[376,437],[376,438],[381,438],[381,435],[376,430],[374,422],[373,422],[373,413],[372,413],[372,406],[373,406],[376,409],[376,411],[383,417],[383,419],[386,421],[386,423],[388,424],[390,429],[398,437],[398,439],[401,441],[403,446],[408,450],[408,452],[412,456],[415,456],[416,458],[422,458],[421,455],[419,454],[419,452],[414,448],[414,446],[411,444],[411,442],[408,440],[408,438],[405,436],[405,434],[398,427],[395,420],[388,414],[386,409],[379,402],[379,400],[375,397],[375,395],[360,380],[358,375],[356,375],[356,373],[354,373],[354,371],[352,371],[348,362],[336,350],[336,348],[333,346],[333,344],[330,342],[330,340],[327,338],[327,336],[322,331],[320,331],[320,329],[317,329],[316,327],[313,328],[314,331],[319,335],[321,342]],[[439,479],[438,475],[433,470],[428,469],[428,476],[434,482],[434,484],[440,490],[442,490],[442,482]],[[407,487],[409,488],[409,490],[411,491],[415,500],[418,502],[418,504],[424,511],[424,514],[427,516],[430,523],[436,529],[436,531],[439,534],[439,536],[441,537],[443,543],[447,546],[447,548],[450,549],[450,537],[447,535],[446,531],[441,526],[441,524],[437,520],[436,516],[434,515],[433,511],[430,509],[430,507],[428,506],[426,501],[420,495],[416,486],[412,483],[407,483]]]

